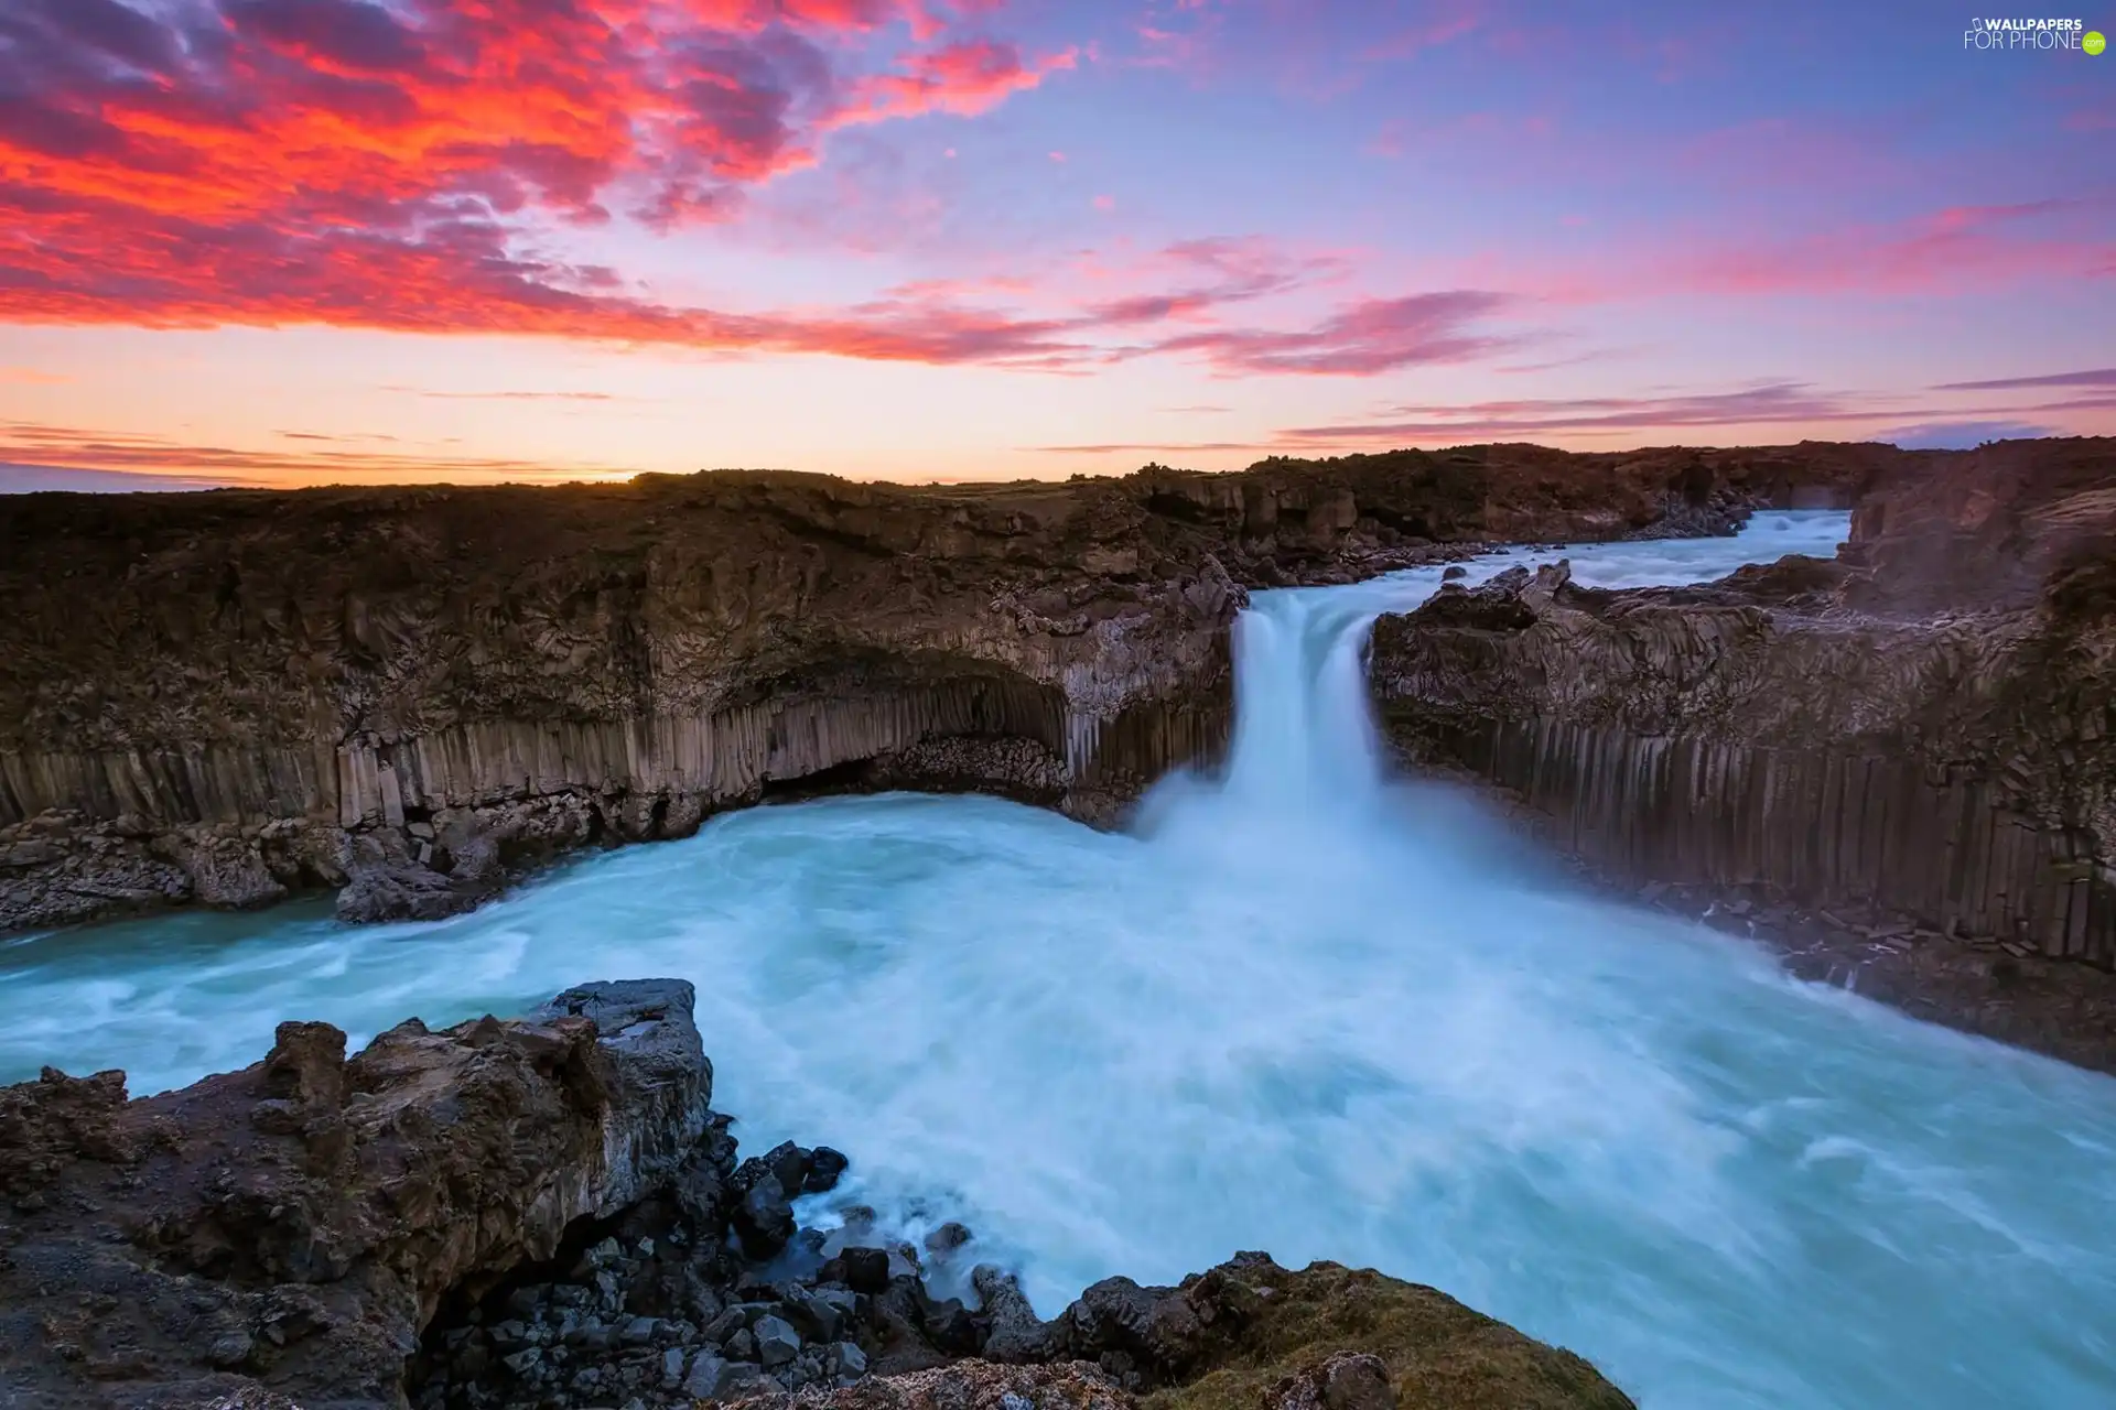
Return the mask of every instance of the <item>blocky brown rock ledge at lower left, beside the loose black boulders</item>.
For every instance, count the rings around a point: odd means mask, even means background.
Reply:
[[[402,1404],[444,1294],[548,1258],[698,1144],[690,1004],[590,985],[353,1059],[284,1023],[262,1063],[163,1097],[114,1072],[0,1091],[0,1399],[205,1404],[241,1374],[311,1410]]]

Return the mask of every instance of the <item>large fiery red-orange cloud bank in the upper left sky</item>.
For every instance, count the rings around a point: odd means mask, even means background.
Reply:
[[[552,218],[719,218],[836,125],[982,112],[1071,63],[997,40],[849,76],[914,0],[8,0],[0,319],[324,321],[853,355],[1037,323],[660,307],[540,254]]]

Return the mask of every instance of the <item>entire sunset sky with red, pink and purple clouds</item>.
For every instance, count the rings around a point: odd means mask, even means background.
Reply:
[[[2116,55],[1968,25],[0,0],[0,488],[2112,433]]]

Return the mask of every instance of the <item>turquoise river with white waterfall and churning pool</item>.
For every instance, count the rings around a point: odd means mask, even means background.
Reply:
[[[1828,554],[1843,522],[1570,556],[1691,581]],[[30,936],[0,949],[0,1080],[154,1091],[288,1017],[360,1042],[677,975],[745,1148],[844,1148],[821,1199],[967,1222],[1045,1315],[1261,1247],[1435,1283],[1648,1410],[2116,1406],[2116,1080],[1585,896],[1473,801],[1388,778],[1361,645],[1437,583],[1257,594],[1227,769],[1166,780],[1128,833],[829,799],[440,924]]]

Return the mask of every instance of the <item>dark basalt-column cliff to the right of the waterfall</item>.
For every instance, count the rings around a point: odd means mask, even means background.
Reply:
[[[1890,474],[1837,560],[1454,586],[1371,662],[1407,759],[1608,875],[1716,888],[1820,970],[2116,1068],[2116,991],[2065,964],[2116,968],[2116,442]]]

